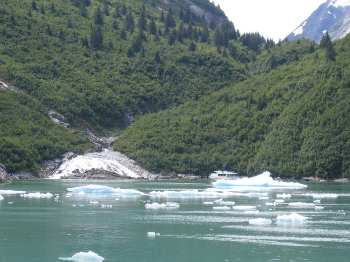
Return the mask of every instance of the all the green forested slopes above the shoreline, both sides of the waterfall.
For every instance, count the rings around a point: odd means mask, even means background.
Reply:
[[[157,172],[349,176],[349,40],[327,40],[240,34],[209,0],[2,0],[0,79],[23,92],[0,89],[0,162],[35,173],[88,127]]]

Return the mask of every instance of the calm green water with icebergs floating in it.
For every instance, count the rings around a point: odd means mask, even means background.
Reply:
[[[59,262],[78,252],[93,251],[105,262],[349,262],[349,183],[304,183],[307,188],[259,191],[269,199],[237,195],[224,197],[235,206],[253,205],[260,212],[214,210],[204,202],[221,197],[67,195],[67,188],[88,184],[151,191],[203,191],[211,181],[15,180],[0,190],[50,192],[53,198],[2,195],[0,201],[0,262]],[[277,194],[291,194],[277,206]],[[315,207],[289,206],[313,203]],[[178,209],[150,210],[147,203],[175,202]],[[97,203],[98,202],[98,203]],[[102,205],[112,205],[103,208]],[[278,215],[296,212],[304,223],[278,223]],[[253,218],[271,219],[270,225],[252,225]],[[147,232],[159,235],[150,237]]]

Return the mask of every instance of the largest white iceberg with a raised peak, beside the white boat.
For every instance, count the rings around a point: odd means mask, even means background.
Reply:
[[[295,182],[276,181],[270,176],[271,173],[266,171],[262,174],[236,180],[219,179],[213,183],[216,187],[264,187],[264,188],[302,188],[306,185]]]

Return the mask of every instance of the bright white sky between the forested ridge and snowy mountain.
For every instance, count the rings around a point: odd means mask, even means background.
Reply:
[[[259,32],[278,42],[296,29],[326,0],[214,0],[235,29]]]

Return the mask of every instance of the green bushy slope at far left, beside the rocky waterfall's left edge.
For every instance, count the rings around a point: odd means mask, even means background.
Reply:
[[[0,88],[0,98],[0,162],[9,172],[36,173],[43,160],[89,146],[86,139],[58,127],[48,110],[28,96]]]

